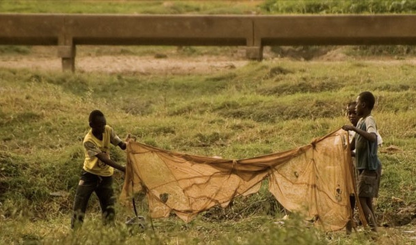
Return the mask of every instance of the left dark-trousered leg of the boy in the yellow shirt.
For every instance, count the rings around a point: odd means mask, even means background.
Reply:
[[[97,186],[97,179],[93,174],[83,172],[75,193],[71,228],[78,228],[84,222],[85,210],[89,197]]]

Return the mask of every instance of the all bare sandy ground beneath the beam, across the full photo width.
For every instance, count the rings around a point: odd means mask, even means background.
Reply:
[[[35,47],[29,55],[2,55],[0,67],[16,69],[32,69],[44,71],[61,71],[61,59],[57,57],[56,50]],[[241,50],[244,51],[244,50]],[[265,59],[276,61],[291,58],[279,58],[268,49],[263,52]],[[302,60],[293,58],[293,60]],[[396,57],[357,58],[343,54],[342,49],[327,52],[312,59],[319,62],[342,62],[359,60],[362,62],[382,64],[413,64],[416,59],[398,59]],[[209,74],[221,70],[235,69],[250,62],[245,59],[245,53],[238,56],[155,56],[134,55],[77,55],[75,69],[81,72],[105,72],[105,73],[139,73],[139,74]]]

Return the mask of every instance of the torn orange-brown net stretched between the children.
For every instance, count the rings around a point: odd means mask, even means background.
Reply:
[[[291,212],[325,230],[342,229],[351,215],[354,193],[347,131],[311,144],[248,159],[218,159],[171,152],[129,142],[123,200],[144,191],[152,218],[174,212],[188,222],[215,205],[226,207],[238,196],[269,191]]]

